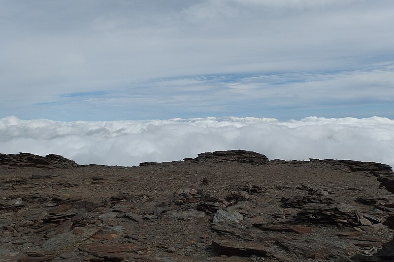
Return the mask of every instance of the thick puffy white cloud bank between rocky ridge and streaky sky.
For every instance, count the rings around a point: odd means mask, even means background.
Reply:
[[[334,158],[394,165],[394,120],[384,117],[193,118],[142,121],[0,119],[1,153],[55,153],[79,164],[138,165],[245,149],[269,159]]]

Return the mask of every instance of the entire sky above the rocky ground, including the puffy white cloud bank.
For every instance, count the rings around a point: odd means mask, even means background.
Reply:
[[[393,0],[0,0],[1,153],[394,165]]]

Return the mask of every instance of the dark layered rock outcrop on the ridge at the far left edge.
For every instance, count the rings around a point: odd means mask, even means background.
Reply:
[[[46,156],[30,153],[0,154],[0,166],[3,167],[35,167],[35,168],[71,168],[78,164],[61,155]]]

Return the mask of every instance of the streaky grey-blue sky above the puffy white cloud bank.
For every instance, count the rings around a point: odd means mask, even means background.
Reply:
[[[2,0],[0,117],[394,119],[392,0]]]

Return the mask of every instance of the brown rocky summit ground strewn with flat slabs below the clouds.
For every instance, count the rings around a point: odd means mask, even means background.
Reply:
[[[393,262],[393,193],[373,162],[0,154],[0,261]]]

